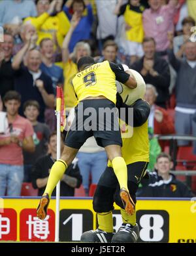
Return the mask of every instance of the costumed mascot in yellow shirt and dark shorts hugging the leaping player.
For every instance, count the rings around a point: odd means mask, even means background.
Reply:
[[[134,71],[135,72],[135,71]],[[134,73],[133,73],[134,74]],[[133,93],[129,91],[126,95],[125,90],[122,92],[123,100],[128,102],[135,100],[131,106],[126,106],[122,102],[120,95],[117,95],[116,107],[125,108],[126,112],[129,107],[133,108],[133,136],[123,138],[122,156],[127,164],[127,184],[131,198],[136,203],[135,193],[139,183],[146,175],[146,167],[149,161],[149,142],[148,142],[148,116],[150,114],[150,105],[142,100],[144,90],[140,92],[140,85],[144,85],[143,79],[136,74],[137,88]],[[141,80],[142,79],[142,80]],[[133,96],[134,95],[134,96]],[[127,97],[128,96],[128,97]],[[132,102],[131,102],[132,103]],[[121,116],[120,116],[121,117]],[[124,120],[129,123],[129,119]],[[123,133],[122,133],[123,137]],[[119,184],[112,166],[109,164],[104,173],[101,175],[93,197],[93,209],[97,212],[98,228],[84,232],[81,236],[82,242],[136,242],[139,238],[139,226],[136,223],[136,213],[127,215],[123,209],[122,200],[119,196]],[[112,210],[114,202],[120,206],[122,215],[122,226],[118,232],[113,232]]]

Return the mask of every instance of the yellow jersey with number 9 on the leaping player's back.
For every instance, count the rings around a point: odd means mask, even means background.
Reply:
[[[89,96],[103,95],[116,104],[116,75],[107,60],[76,74],[73,87],[78,102]]]

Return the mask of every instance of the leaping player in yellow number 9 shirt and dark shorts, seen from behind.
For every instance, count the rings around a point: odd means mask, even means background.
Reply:
[[[130,89],[137,87],[137,82],[131,73],[126,73],[118,65],[107,60],[95,64],[93,58],[84,56],[78,60],[77,66],[79,73],[73,79],[74,91],[78,98],[75,118],[65,138],[61,159],[54,163],[50,171],[46,190],[37,208],[37,217],[46,217],[52,191],[80,147],[91,136],[95,137],[99,146],[105,148],[120,184],[123,207],[127,214],[132,215],[135,203],[127,187],[127,165],[122,158],[122,139],[115,104],[116,80]]]

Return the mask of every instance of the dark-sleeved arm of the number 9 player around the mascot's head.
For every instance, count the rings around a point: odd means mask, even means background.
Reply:
[[[116,80],[120,83],[123,83],[130,89],[134,89],[137,87],[137,81],[135,77],[131,74],[131,71],[124,71],[122,65],[114,64],[113,62],[109,62],[111,70],[116,75]]]

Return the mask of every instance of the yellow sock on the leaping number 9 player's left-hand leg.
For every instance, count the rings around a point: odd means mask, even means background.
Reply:
[[[50,175],[48,177],[46,189],[44,191],[44,194],[48,193],[49,198],[51,197],[57,182],[60,181],[66,169],[67,169],[67,163],[65,163],[65,161],[63,160],[57,160],[54,163],[54,165],[52,165],[52,169],[50,170]]]

